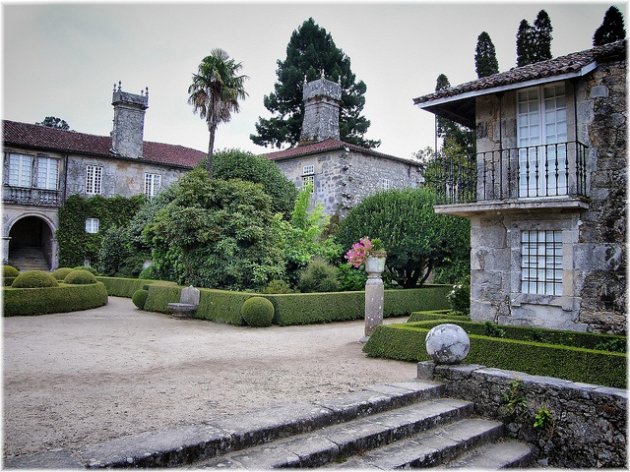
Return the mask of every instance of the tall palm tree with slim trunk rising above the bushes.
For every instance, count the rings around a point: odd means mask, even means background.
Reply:
[[[223,49],[213,49],[199,64],[188,87],[188,103],[194,112],[206,120],[210,140],[208,143],[208,174],[212,176],[214,133],[219,123],[228,122],[231,113],[238,112],[238,101],[247,96],[243,86],[246,75],[237,75],[241,63],[235,62]]]

